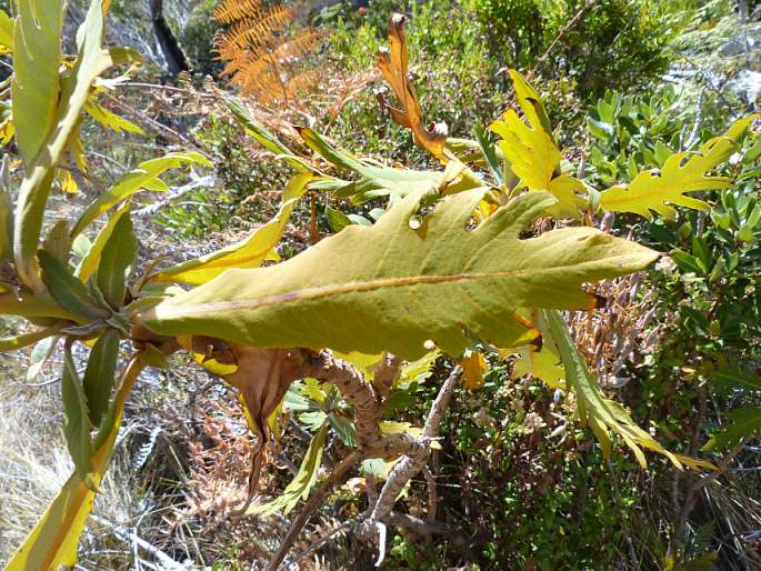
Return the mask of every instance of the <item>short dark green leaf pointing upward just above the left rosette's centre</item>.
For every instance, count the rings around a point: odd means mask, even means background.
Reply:
[[[127,272],[138,253],[132,220],[129,213],[119,217],[113,226],[98,264],[98,289],[113,310],[124,304]]]

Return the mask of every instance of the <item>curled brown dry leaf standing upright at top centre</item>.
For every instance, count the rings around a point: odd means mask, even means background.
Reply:
[[[389,18],[389,39],[391,49],[381,48],[378,51],[378,67],[397,96],[401,109],[391,107],[383,94],[379,94],[378,99],[397,123],[412,131],[417,144],[441,162],[448,162],[453,157],[449,156],[444,149],[448,136],[447,124],[433,123],[430,130],[425,129],[420,102],[410,81],[404,42],[404,16],[394,13]]]

